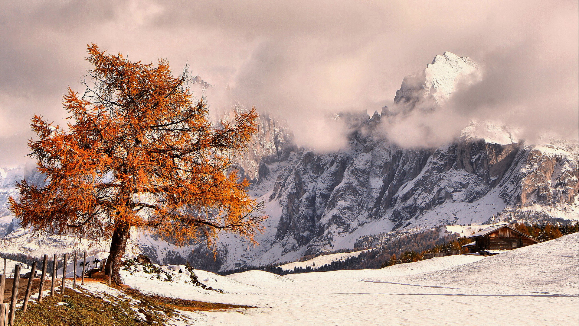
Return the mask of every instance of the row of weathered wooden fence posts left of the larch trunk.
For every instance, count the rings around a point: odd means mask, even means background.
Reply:
[[[68,265],[68,254],[64,254],[63,257],[63,279],[62,279],[62,286],[61,286],[61,294],[64,294],[65,287],[66,287],[66,275],[67,275],[67,265]],[[76,266],[78,265],[78,256],[74,253],[74,268],[73,268],[73,275],[72,275],[72,288],[76,288]],[[85,284],[85,273],[86,271],[86,252],[84,253],[83,263],[82,263],[82,285]],[[34,279],[36,277],[36,265],[37,262],[32,262],[32,266],[30,269],[30,275],[28,276],[28,283],[26,287],[26,291],[24,294],[24,301],[22,303],[22,312],[26,312],[28,308],[28,302],[30,301],[30,295],[32,294],[32,283],[34,283]],[[40,284],[38,288],[38,303],[42,303],[43,291],[45,286],[45,281],[47,278],[50,278],[50,293],[49,295],[56,295],[56,291],[54,291],[54,286],[56,285],[57,281],[57,255],[54,255],[53,258],[53,270],[52,270],[52,277],[50,277],[49,273],[46,271],[46,267],[48,264],[48,255],[44,255],[42,261],[42,274],[40,279]],[[107,260],[104,259],[100,262],[100,269],[104,271],[105,264],[107,264]],[[10,275],[14,275],[13,277],[13,285],[12,285],[12,296],[10,298],[10,303],[3,303],[4,302],[4,292],[6,288],[6,260],[4,260],[4,267],[2,269],[2,275],[0,275],[0,326],[12,326],[14,325],[14,316],[16,315],[16,304],[18,302],[18,288],[20,285],[20,269],[22,264],[17,264],[14,266],[14,270],[10,273]],[[110,264],[110,271],[112,271],[112,263]],[[98,266],[97,266],[98,268]],[[109,285],[111,285],[111,277],[112,273],[109,272]]]

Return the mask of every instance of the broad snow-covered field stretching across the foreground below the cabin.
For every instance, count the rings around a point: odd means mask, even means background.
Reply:
[[[191,325],[577,325],[579,234],[495,255],[456,255],[377,270],[227,277],[225,293],[124,273],[141,291],[256,306],[188,313]]]

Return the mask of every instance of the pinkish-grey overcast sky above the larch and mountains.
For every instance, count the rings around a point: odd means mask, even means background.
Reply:
[[[0,166],[27,160],[33,114],[65,116],[62,94],[80,90],[90,68],[87,43],[167,58],[176,72],[188,64],[287,118],[301,145],[327,149],[339,137],[323,117],[380,110],[404,76],[451,51],[485,67],[447,110],[453,124],[500,116],[577,138],[577,1],[3,0],[1,9]]]

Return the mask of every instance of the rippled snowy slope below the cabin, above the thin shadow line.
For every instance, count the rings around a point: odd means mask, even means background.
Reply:
[[[492,276],[492,277],[489,277]],[[478,262],[402,279],[420,286],[579,295],[579,234],[509,250]]]

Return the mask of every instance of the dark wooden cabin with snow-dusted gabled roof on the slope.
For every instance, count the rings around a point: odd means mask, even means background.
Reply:
[[[536,239],[518,231],[508,224],[493,225],[468,236],[474,239],[463,247],[471,253],[481,250],[510,250],[538,243]]]

